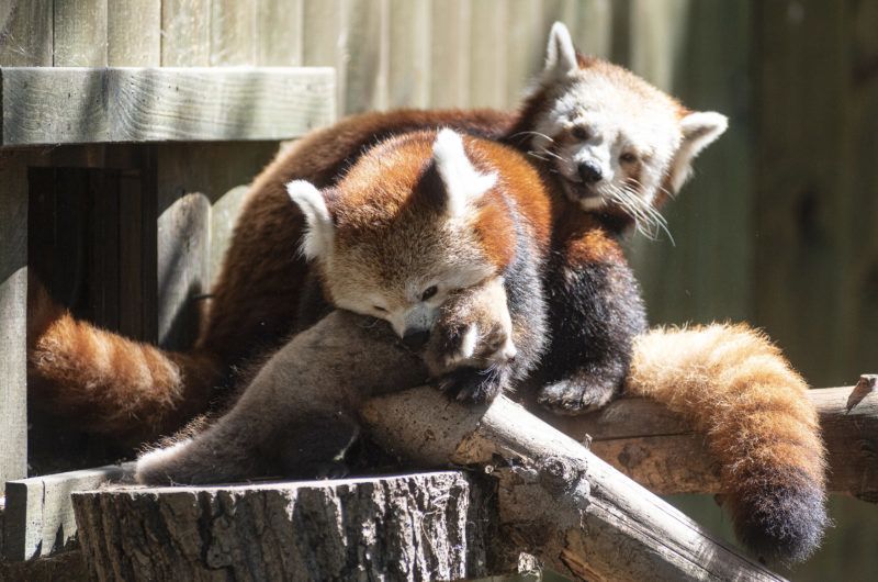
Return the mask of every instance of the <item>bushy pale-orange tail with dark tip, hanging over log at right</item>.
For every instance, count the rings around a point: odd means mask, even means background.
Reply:
[[[746,325],[653,329],[635,340],[627,390],[687,416],[721,463],[739,539],[800,561],[829,524],[825,450],[802,378]]]

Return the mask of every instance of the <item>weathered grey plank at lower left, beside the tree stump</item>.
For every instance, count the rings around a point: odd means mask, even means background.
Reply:
[[[119,481],[133,468],[112,465],[8,482],[3,557],[21,561],[69,549],[76,539],[70,493]]]

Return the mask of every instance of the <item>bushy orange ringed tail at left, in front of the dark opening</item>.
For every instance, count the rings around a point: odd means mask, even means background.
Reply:
[[[168,352],[75,320],[35,286],[29,301],[29,399],[85,432],[153,440],[203,413],[222,380],[203,351]]]

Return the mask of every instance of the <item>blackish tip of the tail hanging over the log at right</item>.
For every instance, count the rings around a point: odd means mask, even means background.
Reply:
[[[819,483],[773,488],[739,499],[734,515],[738,538],[761,560],[785,566],[807,560],[832,525]]]

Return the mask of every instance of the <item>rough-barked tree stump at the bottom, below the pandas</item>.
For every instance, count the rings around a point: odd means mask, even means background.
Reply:
[[[459,472],[74,494],[97,580],[485,575],[491,495]]]

